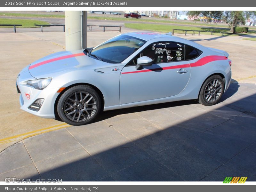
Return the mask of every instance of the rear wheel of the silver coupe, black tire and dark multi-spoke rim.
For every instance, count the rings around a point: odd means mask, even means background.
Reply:
[[[205,106],[215,105],[224,92],[224,85],[221,76],[210,76],[201,87],[198,102]]]

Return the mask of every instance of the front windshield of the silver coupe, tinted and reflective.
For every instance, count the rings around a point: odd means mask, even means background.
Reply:
[[[136,37],[119,35],[96,47],[87,55],[108,63],[121,63],[145,42]]]

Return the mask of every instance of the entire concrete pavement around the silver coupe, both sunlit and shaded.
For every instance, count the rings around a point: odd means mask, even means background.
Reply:
[[[88,33],[88,46],[115,35]],[[0,181],[223,181],[227,176],[256,181],[254,42],[238,46],[239,37],[186,36],[229,50],[233,80],[215,106],[189,100],[106,111],[97,122],[74,127],[22,112],[14,86],[31,60],[64,49],[64,33],[0,36],[6,63],[0,71]],[[28,132],[36,135],[22,139]]]

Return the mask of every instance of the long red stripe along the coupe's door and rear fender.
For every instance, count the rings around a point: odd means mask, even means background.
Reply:
[[[190,63],[190,67],[199,67],[202,65],[205,65],[209,62],[216,61],[216,60],[227,60],[228,58],[225,56],[218,56],[218,55],[212,55],[212,56],[206,56],[195,63]],[[149,71],[158,71],[158,70],[167,70],[167,69],[176,69],[176,68],[187,68],[189,67],[189,64],[183,64],[183,65],[175,65],[175,66],[169,66],[169,67],[163,67],[163,68],[155,68],[155,69],[146,69],[143,71],[131,71],[131,72],[123,72],[122,74],[129,74],[129,73],[142,73],[142,72],[149,72]]]

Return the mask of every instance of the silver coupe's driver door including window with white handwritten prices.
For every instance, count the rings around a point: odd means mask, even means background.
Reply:
[[[148,56],[151,66],[137,70],[139,57]],[[184,60],[184,44],[156,42],[150,44],[122,69],[120,104],[155,100],[179,94],[188,84],[190,65]]]

